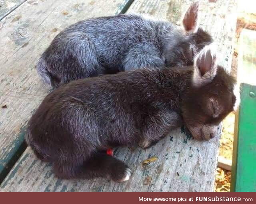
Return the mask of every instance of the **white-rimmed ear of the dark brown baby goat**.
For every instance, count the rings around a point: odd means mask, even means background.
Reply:
[[[196,87],[210,83],[217,73],[216,48],[205,46],[194,61],[193,85]]]

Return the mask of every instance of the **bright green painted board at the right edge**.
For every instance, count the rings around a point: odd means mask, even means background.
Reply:
[[[231,191],[256,191],[256,86],[241,84],[236,118]]]

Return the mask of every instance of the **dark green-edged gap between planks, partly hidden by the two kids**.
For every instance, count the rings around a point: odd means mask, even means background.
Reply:
[[[132,2],[134,2],[134,0],[124,0],[124,3],[118,6],[118,12],[116,12],[116,15],[125,13]],[[26,150],[27,146],[26,142],[24,141],[24,137],[26,135],[26,124],[27,122],[25,122],[24,126],[20,129],[18,138],[12,142],[12,151],[9,152],[8,155],[5,155],[4,158],[0,158],[0,184],[10,172],[14,164],[18,161],[22,153]]]

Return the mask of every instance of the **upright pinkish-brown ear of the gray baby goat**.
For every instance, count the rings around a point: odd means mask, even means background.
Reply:
[[[196,32],[199,2],[196,1],[188,8],[183,18],[183,26],[186,31]]]

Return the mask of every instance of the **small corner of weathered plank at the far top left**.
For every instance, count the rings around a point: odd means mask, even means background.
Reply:
[[[26,0],[0,0],[0,20],[18,8],[25,1]]]

